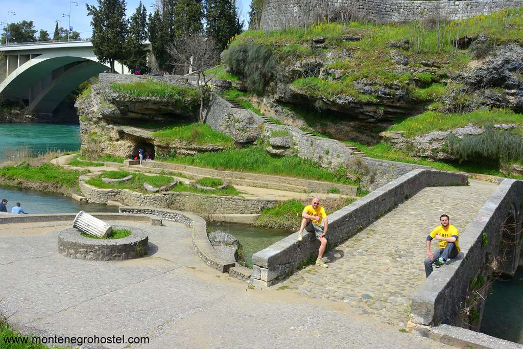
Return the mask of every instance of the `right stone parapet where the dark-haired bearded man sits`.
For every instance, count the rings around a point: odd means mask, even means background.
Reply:
[[[507,220],[510,216],[513,219]],[[523,262],[520,260],[522,220],[523,181],[505,179],[460,235],[463,258],[431,274],[411,296],[411,321],[419,325],[461,326],[460,311],[465,307],[473,280],[478,275],[488,280],[493,272],[514,275]],[[510,251],[505,250],[502,240],[511,240]],[[501,255],[503,258],[496,260]],[[480,317],[482,309],[481,306]],[[475,328],[479,326],[476,323]]]

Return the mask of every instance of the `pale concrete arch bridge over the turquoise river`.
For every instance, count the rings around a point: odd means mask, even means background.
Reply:
[[[75,87],[110,69],[88,40],[10,44],[0,54],[0,98],[21,99],[37,114],[50,114]],[[115,69],[127,73],[119,62]]]

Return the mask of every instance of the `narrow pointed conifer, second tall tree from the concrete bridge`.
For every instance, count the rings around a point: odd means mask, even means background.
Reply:
[[[127,36],[127,59],[123,61],[129,71],[135,67],[140,67],[142,73],[149,71],[147,69],[147,52],[144,41],[147,40],[147,10],[142,2],[138,5],[136,12],[129,20],[129,35]]]

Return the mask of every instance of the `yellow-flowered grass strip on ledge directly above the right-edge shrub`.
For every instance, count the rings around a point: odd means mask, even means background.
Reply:
[[[468,123],[523,123],[521,114],[504,109],[476,110],[467,114],[443,114],[438,111],[426,111],[405,119],[389,128],[389,131],[405,131],[405,137],[412,138],[431,131],[447,131],[462,127]]]

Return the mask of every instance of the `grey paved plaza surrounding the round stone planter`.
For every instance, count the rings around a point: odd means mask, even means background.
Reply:
[[[132,223],[149,232],[151,253],[122,262],[61,256],[58,231],[69,225],[56,224],[0,226],[2,310],[26,333],[150,336],[144,348],[442,347],[345,303],[247,289],[204,264],[178,223]]]

